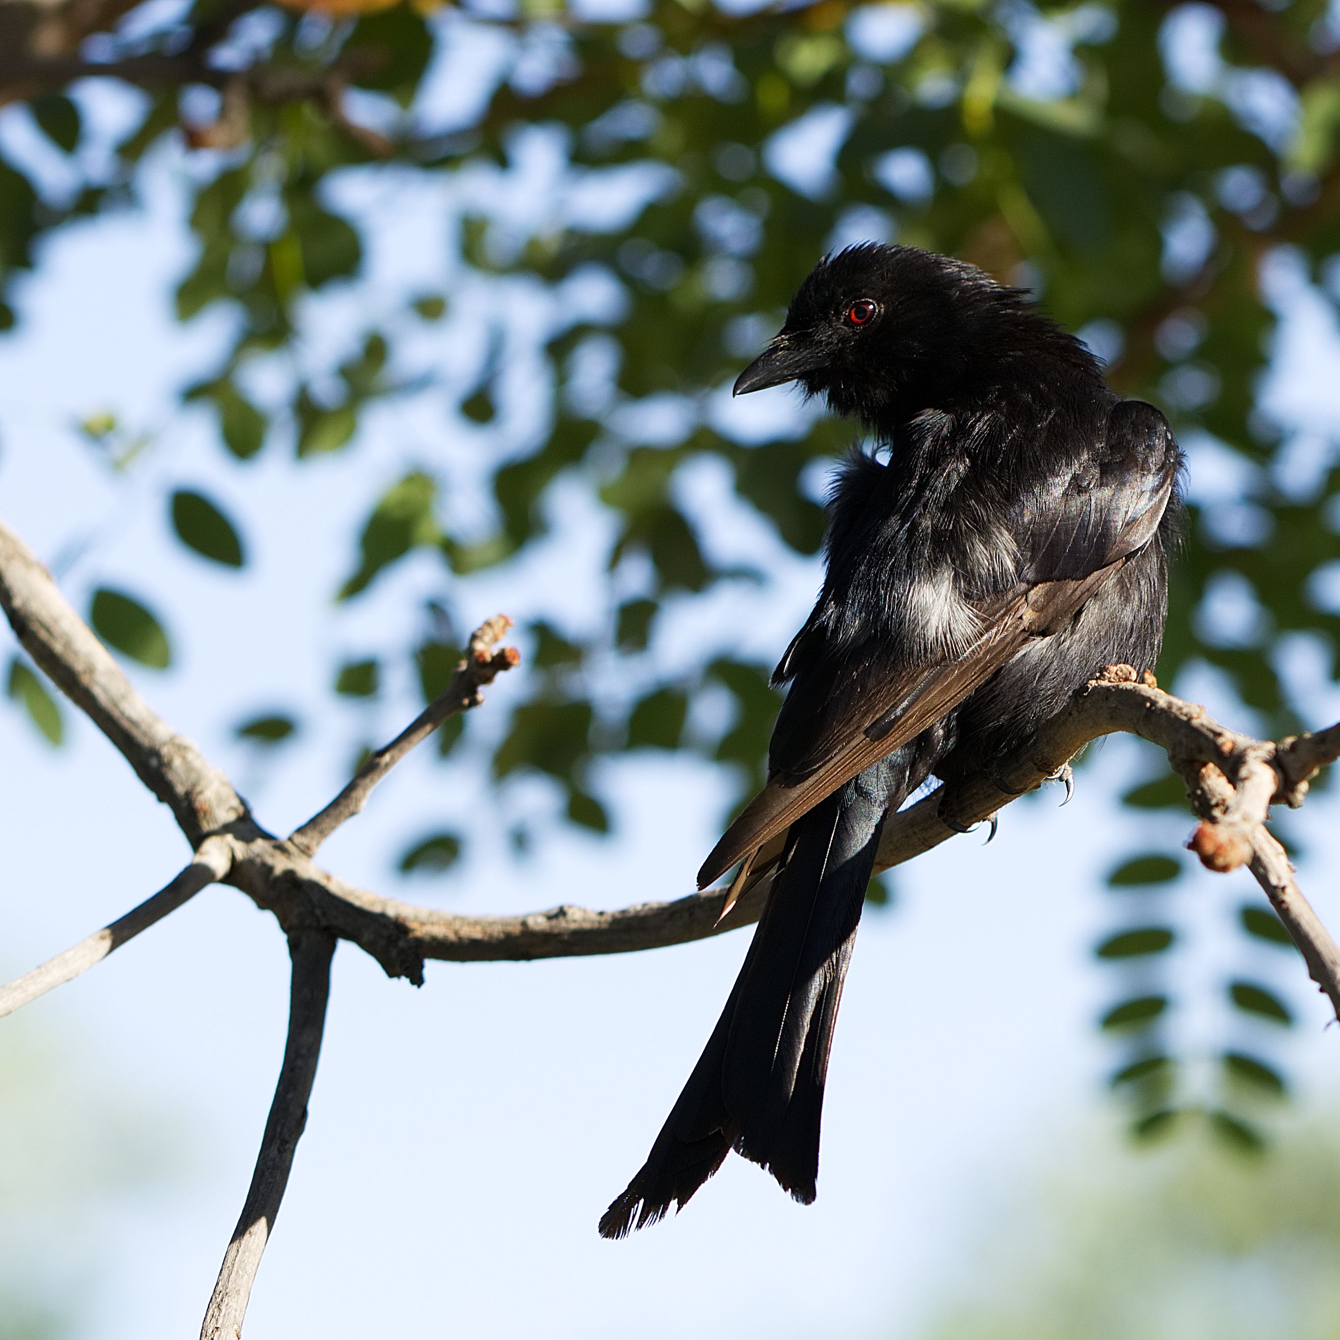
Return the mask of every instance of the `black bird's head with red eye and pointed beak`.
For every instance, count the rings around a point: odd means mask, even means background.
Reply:
[[[809,272],[787,323],[740,374],[734,394],[799,382],[839,414],[879,423],[888,411],[951,393],[965,370],[981,367],[986,348],[1001,344],[1002,319],[1024,330],[1040,320],[1024,293],[976,265],[862,243]]]

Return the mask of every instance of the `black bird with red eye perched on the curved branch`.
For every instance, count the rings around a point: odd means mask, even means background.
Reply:
[[[1163,415],[1017,288],[864,244],[819,263],[736,394],[799,382],[859,419],[819,600],[775,673],[769,781],[698,887],[768,902],[726,1008],[607,1238],[734,1148],[815,1198],[838,1001],[887,815],[930,776],[992,776],[1104,666],[1163,639],[1182,457]]]

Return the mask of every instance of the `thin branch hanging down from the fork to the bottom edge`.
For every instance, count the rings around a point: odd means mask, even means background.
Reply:
[[[284,1199],[297,1142],[307,1124],[307,1100],[316,1079],[316,1061],[326,1029],[335,937],[320,930],[293,931],[288,937],[288,950],[293,959],[293,977],[284,1064],[275,1087],[265,1134],[261,1136],[247,1203],[224,1254],[218,1282],[200,1328],[200,1340],[239,1340],[243,1333],[243,1317],[247,1315],[252,1284]]]

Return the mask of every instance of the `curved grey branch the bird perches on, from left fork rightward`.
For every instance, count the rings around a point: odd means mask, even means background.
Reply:
[[[1174,698],[1154,683],[1136,682],[1130,666],[1116,666],[1080,690],[1026,754],[1013,760],[998,777],[941,787],[894,815],[884,825],[876,868],[911,860],[990,817],[1053,777],[1091,740],[1118,730],[1143,736],[1167,750],[1190,779],[1202,828],[1209,825],[1217,836],[1222,829],[1225,848],[1240,825],[1248,824],[1249,832],[1256,832],[1272,800],[1298,803],[1306,777],[1340,756],[1340,729],[1281,745],[1252,740],[1221,726],[1203,708]],[[1230,779],[1244,784],[1245,793],[1240,795]],[[1268,785],[1262,779],[1274,780]],[[1222,795],[1215,785],[1223,788]],[[1222,862],[1210,864],[1229,868]],[[704,939],[757,921],[768,890],[765,876],[720,923],[722,890],[618,911],[563,906],[520,917],[468,917],[355,888],[323,871],[292,842],[272,839],[245,844],[229,880],[260,906],[272,907],[285,925],[287,918],[315,918],[359,945],[389,974],[413,982],[422,981],[426,959],[486,962],[623,954]]]

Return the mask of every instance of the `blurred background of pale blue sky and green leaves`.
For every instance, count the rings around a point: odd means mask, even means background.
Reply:
[[[326,852],[440,907],[674,898],[757,781],[854,436],[729,385],[825,249],[1033,289],[1155,401],[1191,521],[1159,674],[1340,717],[1340,11],[0,0],[0,511],[275,831],[480,619],[524,671]],[[0,634],[0,972],[182,864]],[[1335,1340],[1335,1030],[1154,750],[872,886],[820,1199],[730,1160],[595,1221],[745,937],[342,947],[248,1336]],[[1340,925],[1335,805],[1281,821]],[[0,1337],[192,1333],[287,954],[209,890],[0,1030]]]

